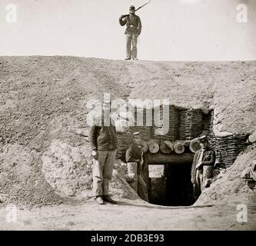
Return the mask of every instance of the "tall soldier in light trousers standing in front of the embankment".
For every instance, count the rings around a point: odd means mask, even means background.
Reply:
[[[101,124],[95,124],[91,127],[89,140],[91,144],[91,155],[94,158],[93,163],[93,192],[95,201],[98,204],[104,204],[104,201],[116,204],[108,194],[109,182],[112,178],[113,166],[115,163],[115,153],[117,150],[117,135],[115,125],[106,124],[104,111],[109,110],[110,101],[104,101],[102,111],[96,122],[101,118]],[[110,118],[109,118],[110,119]],[[108,119],[107,119],[108,122]]]

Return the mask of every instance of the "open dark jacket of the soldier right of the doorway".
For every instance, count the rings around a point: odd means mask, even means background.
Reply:
[[[198,161],[199,161],[199,157],[201,154],[201,149],[196,151],[194,154],[194,160],[193,160],[193,164],[192,164],[192,168],[191,168],[191,181],[194,184],[194,179],[195,179],[195,174],[196,174],[196,165],[198,165]],[[215,151],[211,150],[210,148],[207,148],[204,151],[203,154],[203,158],[201,161],[201,168],[202,169],[204,165],[210,165],[210,166],[214,166],[215,163]]]

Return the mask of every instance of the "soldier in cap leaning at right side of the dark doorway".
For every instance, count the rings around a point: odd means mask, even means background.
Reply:
[[[208,138],[201,136],[198,140],[200,141],[201,149],[195,152],[191,168],[191,182],[193,184],[193,196],[195,201],[198,200],[201,191],[208,186],[208,180],[206,174],[204,174],[206,167],[211,169],[212,173],[212,168],[215,163],[215,152],[209,148]]]

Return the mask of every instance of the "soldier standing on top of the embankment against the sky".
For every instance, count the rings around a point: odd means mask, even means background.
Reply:
[[[127,26],[126,35],[126,58],[125,60],[137,59],[138,36],[141,35],[141,18],[135,15],[135,6],[131,5],[129,15],[121,15],[119,23],[121,26]],[[132,48],[131,48],[132,46]]]

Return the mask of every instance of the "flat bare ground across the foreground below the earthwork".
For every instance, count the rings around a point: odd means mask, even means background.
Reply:
[[[43,208],[18,207],[17,221],[7,222],[0,209],[2,230],[256,230],[256,214],[247,222],[237,221],[237,205],[205,207],[161,207],[120,199],[120,204],[85,202]]]

